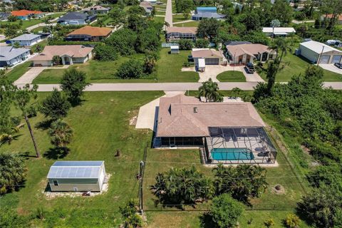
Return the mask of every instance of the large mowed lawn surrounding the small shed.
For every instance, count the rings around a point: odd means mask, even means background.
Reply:
[[[48,93],[38,93],[42,100]],[[58,160],[104,160],[105,170],[111,175],[109,190],[96,197],[58,197],[46,199],[46,175],[57,160],[42,115],[31,118],[31,125],[41,151],[35,152],[26,126],[11,145],[2,145],[1,152],[25,154],[28,167],[26,182],[18,192],[0,198],[1,209],[13,208],[19,214],[32,214],[46,210],[46,219],[34,219],[31,227],[118,227],[121,223],[118,209],[130,198],[137,197],[138,182],[135,174],[145,146],[150,145],[152,131],[135,130],[129,125],[130,118],[138,114],[141,105],[150,102],[162,92],[92,92],[86,93],[81,105],[72,108],[65,119],[74,131],[70,153]],[[14,110],[14,114],[19,113]],[[24,122],[24,120],[22,121]],[[116,150],[120,157],[115,157]],[[66,214],[60,219],[56,211]],[[30,225],[27,224],[27,227]]]

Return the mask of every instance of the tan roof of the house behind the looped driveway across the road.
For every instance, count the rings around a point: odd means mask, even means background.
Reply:
[[[249,56],[254,56],[258,53],[273,53],[274,50],[269,49],[261,43],[243,43],[234,46],[227,46],[227,51],[234,56],[241,56],[243,54],[248,54]]]

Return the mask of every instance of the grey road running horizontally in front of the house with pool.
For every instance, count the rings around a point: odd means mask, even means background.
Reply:
[[[220,90],[232,90],[235,87],[242,90],[253,90],[257,82],[243,83],[218,83]],[[24,85],[23,85],[24,86]],[[52,91],[60,88],[59,84],[40,84],[38,91]],[[86,88],[86,91],[186,91],[198,90],[202,83],[94,83]],[[342,82],[326,82],[324,87],[342,90]]]

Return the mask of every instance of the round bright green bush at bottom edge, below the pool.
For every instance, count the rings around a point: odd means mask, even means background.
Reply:
[[[244,209],[229,194],[222,194],[212,199],[209,215],[217,227],[235,227]]]

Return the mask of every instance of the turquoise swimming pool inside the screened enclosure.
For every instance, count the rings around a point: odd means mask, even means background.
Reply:
[[[212,160],[252,160],[254,155],[247,148],[214,148]]]

